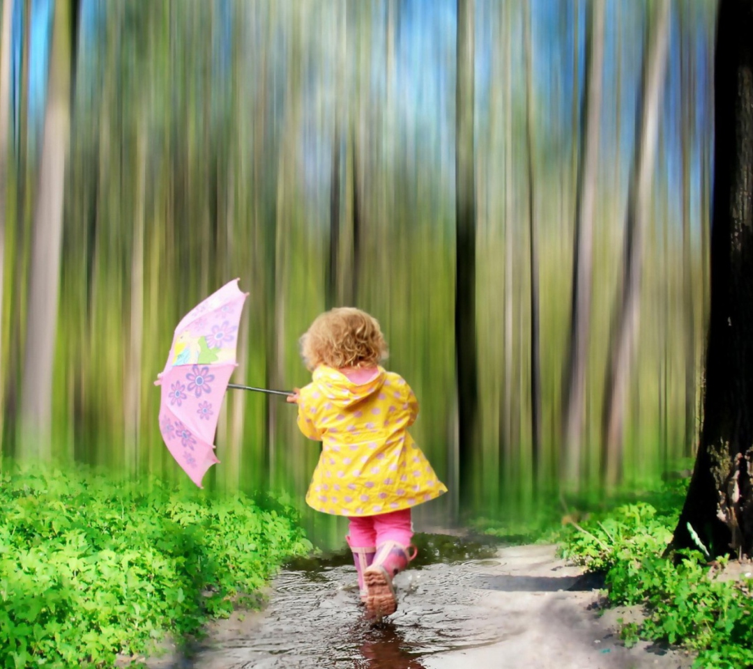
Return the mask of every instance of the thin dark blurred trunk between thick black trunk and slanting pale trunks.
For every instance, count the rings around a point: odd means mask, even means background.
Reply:
[[[536,239],[536,198],[534,192],[535,166],[533,155],[533,63],[531,35],[531,6],[525,4],[526,50],[526,158],[528,167],[528,225],[531,309],[531,442],[533,480],[538,482],[543,468],[541,453],[541,358],[538,326],[538,242]]]

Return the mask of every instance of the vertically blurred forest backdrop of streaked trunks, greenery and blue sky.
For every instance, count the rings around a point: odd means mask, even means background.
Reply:
[[[3,0],[2,453],[184,474],[184,313],[248,290],[233,382],[380,320],[451,513],[653,485],[694,454],[712,0]],[[301,495],[279,398],[228,391],[218,488]],[[440,508],[440,507],[437,507]]]

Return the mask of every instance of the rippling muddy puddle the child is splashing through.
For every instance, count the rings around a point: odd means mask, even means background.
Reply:
[[[206,669],[425,669],[437,652],[493,643],[501,621],[477,619],[476,584],[498,546],[417,534],[419,558],[398,575],[399,607],[367,620],[349,552],[288,564],[264,613],[224,622],[183,666]]]

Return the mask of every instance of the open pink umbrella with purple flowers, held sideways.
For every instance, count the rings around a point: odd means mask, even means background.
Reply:
[[[237,366],[236,336],[247,296],[233,279],[191,309],[175,328],[165,369],[154,382],[162,386],[160,432],[165,445],[200,488],[206,470],[219,462],[214,439],[225,389],[289,394],[228,383]]]

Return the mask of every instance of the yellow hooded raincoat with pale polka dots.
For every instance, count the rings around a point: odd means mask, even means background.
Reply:
[[[317,367],[298,403],[300,431],[322,442],[306,503],[334,515],[377,515],[447,492],[407,431],[418,412],[398,374],[378,367],[373,379],[356,384]]]

